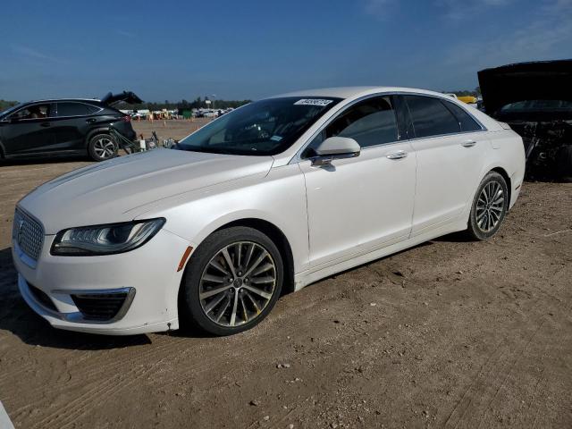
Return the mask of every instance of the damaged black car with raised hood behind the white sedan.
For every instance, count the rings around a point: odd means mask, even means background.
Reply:
[[[572,60],[478,72],[484,111],[523,138],[528,177],[572,181]]]

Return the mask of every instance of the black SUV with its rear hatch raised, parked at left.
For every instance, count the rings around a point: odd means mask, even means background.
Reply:
[[[135,139],[130,115],[113,105],[142,103],[132,92],[107,94],[101,100],[30,101],[0,112],[0,157],[88,155],[95,161],[116,156],[114,128]]]

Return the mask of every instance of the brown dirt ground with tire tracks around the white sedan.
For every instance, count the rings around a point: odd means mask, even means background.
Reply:
[[[572,427],[572,185],[528,182],[494,239],[450,235],[317,282],[252,331],[117,338],[52,329],[10,257],[16,201],[85,164],[0,165],[0,400],[16,427]]]

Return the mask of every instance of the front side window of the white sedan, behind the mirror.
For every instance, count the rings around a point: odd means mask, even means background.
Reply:
[[[315,156],[315,147],[329,137],[355,139],[360,147],[397,141],[397,121],[391,97],[368,98],[349,107],[310,143],[303,157]]]

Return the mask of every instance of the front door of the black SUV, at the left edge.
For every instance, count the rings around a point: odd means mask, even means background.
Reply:
[[[52,103],[36,103],[10,114],[2,128],[6,155],[25,156],[48,151],[55,143],[51,129],[53,112]]]

